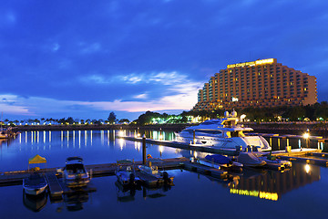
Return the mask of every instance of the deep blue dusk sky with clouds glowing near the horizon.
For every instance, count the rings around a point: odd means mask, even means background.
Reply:
[[[11,120],[179,113],[228,64],[271,57],[328,100],[328,1],[4,0],[0,33]]]

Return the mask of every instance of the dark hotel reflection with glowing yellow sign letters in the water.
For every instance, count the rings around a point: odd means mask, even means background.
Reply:
[[[255,196],[277,201],[288,193],[306,184],[320,180],[320,167],[293,163],[287,172],[265,172],[252,177],[241,176],[230,185],[230,193]]]

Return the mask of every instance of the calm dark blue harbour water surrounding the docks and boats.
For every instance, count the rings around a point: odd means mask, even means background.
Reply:
[[[77,155],[86,164],[125,158],[141,160],[140,143],[116,139],[115,134],[118,133],[109,130],[23,132],[14,141],[0,142],[0,172],[26,169],[28,158],[36,154],[46,157],[48,167],[62,167],[68,156]],[[160,133],[151,131],[151,135],[156,138],[154,135],[159,137]],[[165,139],[172,136],[171,132],[165,133]],[[278,148],[278,142],[272,143]],[[281,141],[279,147],[283,148],[284,143]],[[298,147],[298,140],[291,143],[293,148]],[[147,150],[153,157],[162,158],[192,153],[156,145],[148,145]],[[46,197],[26,200],[21,185],[0,187],[1,218],[324,218],[326,215],[327,168],[293,163],[290,171],[246,170],[230,181],[180,170],[169,173],[175,176],[171,188],[134,192],[119,190],[115,176],[94,178],[92,183],[97,192],[77,193],[61,203],[51,203]],[[33,211],[36,209],[39,212]]]

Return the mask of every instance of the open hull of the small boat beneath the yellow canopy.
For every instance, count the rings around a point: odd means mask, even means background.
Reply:
[[[37,172],[32,173],[28,178],[23,180],[24,191],[29,195],[45,193],[46,187],[46,178]]]

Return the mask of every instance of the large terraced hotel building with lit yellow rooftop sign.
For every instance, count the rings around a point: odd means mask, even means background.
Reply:
[[[193,110],[300,106],[316,101],[314,76],[268,58],[220,70],[199,90]]]

